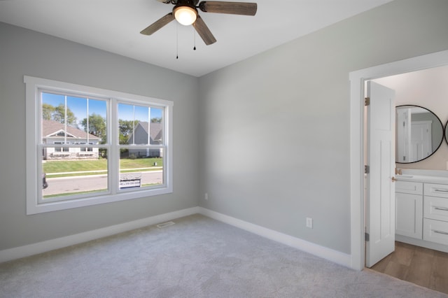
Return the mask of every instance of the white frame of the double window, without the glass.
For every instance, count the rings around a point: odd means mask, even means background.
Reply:
[[[172,115],[173,101],[165,99],[155,99],[136,94],[128,94],[113,90],[104,90],[96,87],[76,85],[57,80],[48,80],[32,76],[24,76],[26,86],[26,193],[27,193],[27,215],[59,211],[69,208],[92,206],[113,201],[124,201],[128,199],[138,199],[151,197],[160,194],[173,192],[173,166],[172,166]],[[58,200],[39,202],[42,194],[42,153],[38,144],[41,142],[41,115],[39,90],[53,90],[73,94],[88,94],[89,96],[101,97],[109,101],[107,136],[108,141],[102,147],[108,149],[109,192],[95,193],[88,197],[71,200]],[[120,144],[118,142],[118,102],[128,104],[151,105],[165,109],[163,115],[163,132],[165,138],[166,152],[164,151],[163,185],[160,187],[144,187],[134,190],[120,190],[119,187],[119,158]],[[116,182],[116,183],[113,183]]]

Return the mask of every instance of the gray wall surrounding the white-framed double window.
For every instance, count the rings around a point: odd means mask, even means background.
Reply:
[[[174,101],[174,193],[25,215],[24,75]],[[197,206],[197,78],[0,23],[0,103],[0,250]]]

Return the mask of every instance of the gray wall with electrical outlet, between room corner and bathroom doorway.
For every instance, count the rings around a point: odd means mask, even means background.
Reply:
[[[349,72],[446,50],[447,12],[393,1],[200,78],[200,206],[350,253]]]

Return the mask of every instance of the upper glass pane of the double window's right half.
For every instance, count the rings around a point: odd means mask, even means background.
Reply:
[[[163,143],[163,108],[118,104],[118,135],[122,145]]]

